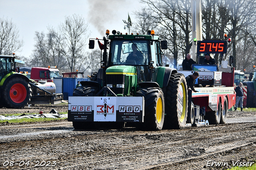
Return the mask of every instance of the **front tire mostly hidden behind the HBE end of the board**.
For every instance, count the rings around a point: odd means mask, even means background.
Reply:
[[[97,87],[80,86],[74,89],[73,96],[94,96],[98,93]],[[94,122],[73,122],[75,129],[94,129]]]

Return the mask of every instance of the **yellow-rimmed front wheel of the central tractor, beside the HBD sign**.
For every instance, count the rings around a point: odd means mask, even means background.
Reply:
[[[138,89],[136,96],[144,96],[144,123],[146,130],[161,130],[164,125],[164,95],[159,88]],[[142,128],[140,127],[140,128]]]

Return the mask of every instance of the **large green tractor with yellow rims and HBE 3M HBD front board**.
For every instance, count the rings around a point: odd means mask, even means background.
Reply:
[[[162,65],[167,41],[148,35],[112,31],[94,40],[103,50],[101,68],[91,80],[81,81],[68,99],[68,121],[75,129],[135,124],[147,130],[186,126],[186,79],[176,69]]]

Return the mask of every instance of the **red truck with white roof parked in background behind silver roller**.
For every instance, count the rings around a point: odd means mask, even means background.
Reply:
[[[30,78],[38,82],[39,80],[46,80],[53,82],[54,77],[60,77],[59,69],[56,67],[32,67]]]

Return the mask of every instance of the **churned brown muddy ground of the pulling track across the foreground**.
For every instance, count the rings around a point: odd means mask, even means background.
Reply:
[[[67,121],[2,125],[0,169],[221,170],[254,164],[256,113],[232,111],[228,121],[161,131],[74,130]]]

